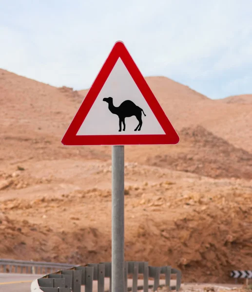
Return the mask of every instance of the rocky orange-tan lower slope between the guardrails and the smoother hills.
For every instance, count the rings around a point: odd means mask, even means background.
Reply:
[[[0,256],[109,261],[111,162],[21,165],[0,174]],[[251,181],[127,163],[125,185],[127,260],[172,265],[186,282],[232,282],[230,270],[250,269]]]

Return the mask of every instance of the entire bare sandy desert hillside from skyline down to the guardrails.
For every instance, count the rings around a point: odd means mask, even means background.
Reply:
[[[252,104],[146,80],[180,142],[125,146],[125,256],[228,282],[251,269]],[[86,93],[0,70],[0,257],[110,260],[111,147],[60,143]]]

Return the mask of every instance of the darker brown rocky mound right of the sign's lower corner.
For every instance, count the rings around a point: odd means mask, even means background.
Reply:
[[[212,178],[252,179],[252,153],[201,126],[183,128],[179,134],[179,150],[149,156],[146,163]]]

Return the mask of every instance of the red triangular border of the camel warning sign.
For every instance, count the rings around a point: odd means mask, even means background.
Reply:
[[[92,108],[99,92],[101,91],[104,83],[106,82],[109,74],[114,68],[118,58],[121,58],[125,67],[131,74],[138,89],[141,91],[149,107],[153,111],[160,126],[163,128],[165,134],[156,135],[76,135],[81,127],[84,119],[86,118],[89,110]],[[66,130],[61,143],[67,146],[79,145],[164,145],[164,144],[177,144],[179,136],[174,130],[171,122],[165,115],[161,106],[159,105],[155,95],[148,86],[143,75],[137,68],[133,58],[129,54],[125,45],[121,41],[117,41],[112,48],[109,56],[104,62],[101,70],[89,89],[85,99],[80,105],[72,123]]]

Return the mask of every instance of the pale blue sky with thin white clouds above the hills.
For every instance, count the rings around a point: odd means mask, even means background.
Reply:
[[[91,86],[116,40],[144,76],[252,93],[252,0],[0,0],[0,68]]]

